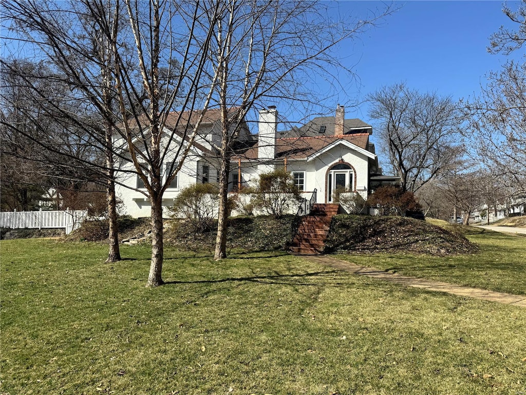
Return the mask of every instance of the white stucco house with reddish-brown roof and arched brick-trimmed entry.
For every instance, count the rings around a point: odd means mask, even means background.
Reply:
[[[167,125],[170,127],[170,122]],[[236,155],[231,160],[229,192],[256,185],[259,174],[283,168],[291,172],[306,199],[317,190],[316,203],[331,203],[337,188],[359,193],[367,199],[372,186],[396,183],[398,179],[382,176],[375,147],[369,141],[372,127],[359,119],[346,120],[341,106],[336,116],[316,117],[287,132],[278,132],[277,125],[276,107],[269,107],[259,113],[257,135],[251,134],[246,126],[242,128]],[[219,112],[207,111],[201,137],[164,194],[165,206],[170,206],[178,192],[188,185],[218,181],[218,162],[210,144],[220,141],[218,127]],[[123,167],[126,168],[129,169],[129,164]],[[136,217],[148,216],[148,198],[139,192],[144,190],[144,185],[138,177],[123,173],[120,181],[126,187],[118,186],[117,195],[123,200],[126,212]]]

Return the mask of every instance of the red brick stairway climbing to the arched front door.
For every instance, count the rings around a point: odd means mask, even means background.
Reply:
[[[313,204],[310,214],[301,218],[290,251],[300,255],[321,254],[325,248],[330,221],[333,215],[338,214],[339,207],[339,204]]]

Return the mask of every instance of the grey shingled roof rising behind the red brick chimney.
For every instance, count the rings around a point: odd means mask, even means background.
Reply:
[[[372,126],[363,122],[359,118],[352,118],[343,121],[343,134],[353,133],[372,133]],[[281,137],[315,137],[333,136],[335,134],[335,117],[318,116],[301,127],[294,127],[291,130],[281,133]]]

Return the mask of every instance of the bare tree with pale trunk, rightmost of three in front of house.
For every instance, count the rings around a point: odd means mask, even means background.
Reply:
[[[391,12],[387,7],[378,16],[348,23],[331,21],[321,3],[219,3],[214,23],[210,13],[199,19],[204,26],[214,27],[206,70],[217,78],[212,105],[221,113],[221,141],[212,142],[219,156],[216,260],[226,258],[230,161],[247,114],[270,103],[290,103],[297,108],[319,101],[319,92],[310,89],[305,78],[330,78],[336,70],[350,72],[335,54],[338,43]]]

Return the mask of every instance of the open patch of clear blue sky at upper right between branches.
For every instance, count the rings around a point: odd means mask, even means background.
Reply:
[[[517,9],[519,2],[508,2]],[[340,51],[357,81],[340,80],[346,87],[337,101],[346,104],[346,117],[368,122],[367,104],[351,105],[378,88],[406,82],[420,92],[451,95],[455,100],[477,95],[484,75],[499,70],[508,57],[491,55],[489,36],[501,25],[513,26],[500,1],[406,1],[379,27],[369,29]],[[341,15],[363,17],[381,2],[343,1]],[[335,10],[336,11],[336,10]],[[519,51],[520,52],[520,51]],[[515,53],[515,58],[524,53]],[[356,64],[356,65],[355,65]]]

